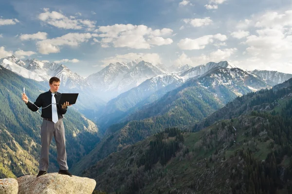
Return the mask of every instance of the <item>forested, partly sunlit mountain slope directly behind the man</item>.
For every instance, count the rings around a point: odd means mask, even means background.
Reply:
[[[26,94],[34,101],[48,91],[48,86],[23,78],[0,66],[0,178],[36,174],[40,153],[40,111],[30,111],[21,99],[22,88],[29,88]],[[62,90],[60,90],[62,92]],[[100,140],[99,129],[74,105],[64,115],[68,165],[80,160]],[[57,171],[55,141],[50,151],[49,171]]]

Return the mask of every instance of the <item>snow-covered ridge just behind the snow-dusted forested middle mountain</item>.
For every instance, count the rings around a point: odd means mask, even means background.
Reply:
[[[208,71],[214,68],[229,68],[230,69],[230,68],[238,68],[238,67],[227,61],[221,61],[219,63],[209,62],[204,65],[198,65],[190,69],[187,69],[183,71],[180,74],[180,76],[187,80],[189,78],[202,76],[203,74],[207,73]]]

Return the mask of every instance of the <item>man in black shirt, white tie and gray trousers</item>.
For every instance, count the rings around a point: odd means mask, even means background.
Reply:
[[[57,147],[57,162],[60,166],[59,174],[72,177],[72,174],[68,171],[65,129],[62,120],[63,114],[67,112],[68,106],[71,105],[69,105],[69,102],[62,105],[58,104],[61,97],[61,93],[57,92],[60,87],[60,80],[58,78],[52,77],[49,85],[50,90],[40,94],[35,103],[28,101],[25,93],[22,94],[22,100],[30,110],[36,112],[39,107],[42,107],[41,117],[43,118],[43,122],[40,130],[41,152],[37,177],[47,174],[49,167],[49,148],[53,135]]]

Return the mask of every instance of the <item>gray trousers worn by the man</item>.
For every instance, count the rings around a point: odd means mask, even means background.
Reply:
[[[39,170],[48,170],[49,149],[53,135],[57,147],[57,162],[59,163],[61,170],[68,170],[63,119],[60,119],[57,123],[43,119],[40,129],[41,151],[39,158]]]

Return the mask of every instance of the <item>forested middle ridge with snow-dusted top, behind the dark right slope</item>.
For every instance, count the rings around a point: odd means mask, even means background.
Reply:
[[[214,113],[237,96],[271,87],[244,70],[219,68],[201,78],[192,78],[158,100],[143,106],[121,123],[107,129],[105,138],[73,167],[80,174],[89,167],[129,145],[170,127],[185,127]]]

